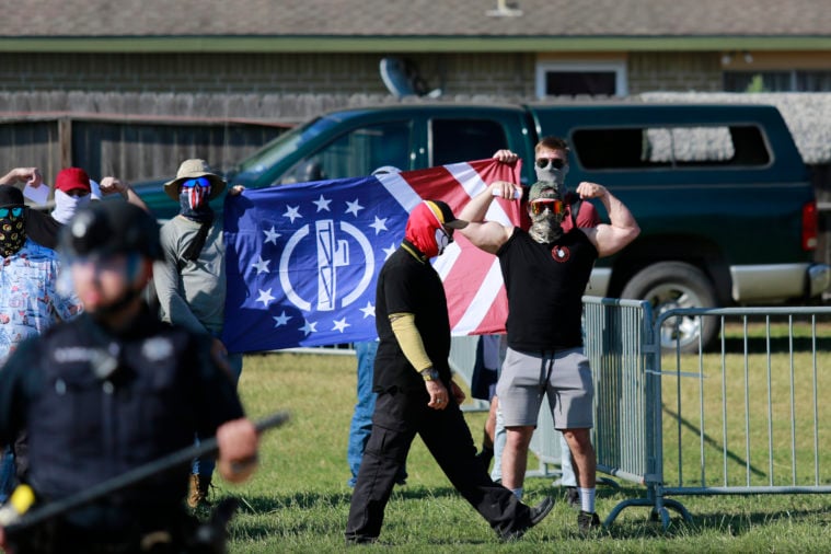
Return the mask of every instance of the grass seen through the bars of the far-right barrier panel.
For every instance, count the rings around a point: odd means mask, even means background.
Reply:
[[[790,330],[773,323],[770,344],[766,334],[764,324],[752,323],[746,343],[743,326],[732,323],[724,356],[685,356],[680,362],[665,356],[665,372],[688,374],[663,379],[665,483],[831,484],[831,404],[826,402],[831,393],[831,326],[817,327],[816,358],[809,325],[795,323]],[[689,377],[694,373],[703,379]]]

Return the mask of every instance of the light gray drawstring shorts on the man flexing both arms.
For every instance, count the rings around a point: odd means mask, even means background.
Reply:
[[[506,427],[536,426],[543,394],[556,429],[588,429],[593,425],[595,384],[582,348],[554,355],[508,348],[496,385]]]

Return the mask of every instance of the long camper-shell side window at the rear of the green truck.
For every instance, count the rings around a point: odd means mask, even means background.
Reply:
[[[579,129],[572,143],[587,170],[761,166],[770,151],[759,127],[625,127]]]

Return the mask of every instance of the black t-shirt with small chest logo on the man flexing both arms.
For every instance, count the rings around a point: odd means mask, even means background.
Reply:
[[[580,230],[540,244],[523,230],[496,253],[508,292],[508,346],[521,351],[582,346],[582,292],[598,257]]]

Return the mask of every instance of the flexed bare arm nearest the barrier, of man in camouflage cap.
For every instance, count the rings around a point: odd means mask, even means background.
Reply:
[[[599,198],[609,213],[610,224],[599,224],[595,229],[581,229],[598,250],[598,256],[611,256],[634,241],[640,228],[628,208],[604,186],[584,181],[577,187],[582,199]]]

